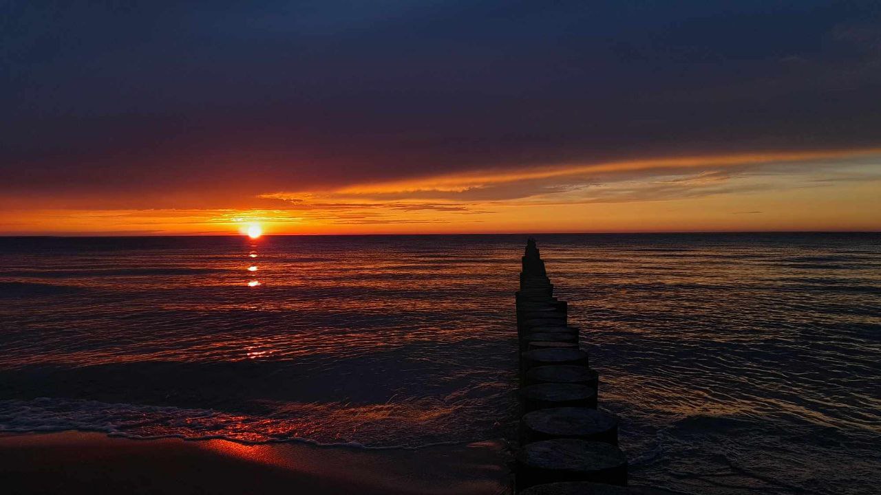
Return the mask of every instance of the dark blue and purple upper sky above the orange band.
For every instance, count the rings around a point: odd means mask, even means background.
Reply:
[[[2,5],[14,201],[881,144],[877,1]]]

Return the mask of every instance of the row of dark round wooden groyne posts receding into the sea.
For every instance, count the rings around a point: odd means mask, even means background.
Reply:
[[[529,239],[516,293],[522,416],[515,492],[617,493],[627,484],[618,418],[596,409],[599,374],[553,295],[536,241]]]

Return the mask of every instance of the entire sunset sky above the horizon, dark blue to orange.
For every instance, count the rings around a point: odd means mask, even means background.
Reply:
[[[4,2],[0,234],[881,230],[877,1],[134,4]]]

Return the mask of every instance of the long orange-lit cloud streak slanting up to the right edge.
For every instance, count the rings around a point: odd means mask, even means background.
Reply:
[[[593,202],[646,201],[735,192],[724,184],[731,174],[808,173],[841,167],[860,160],[877,160],[879,156],[881,150],[867,149],[568,164],[526,168],[515,172],[485,170],[408,181],[370,182],[306,194],[276,192],[260,197],[296,202],[297,207],[302,209],[379,207],[435,211],[456,208],[467,210],[477,203],[552,196],[575,202],[588,201],[585,196],[590,196],[589,201]],[[854,174],[828,172],[822,177],[836,181],[838,178],[849,179],[852,176],[865,179],[871,175]],[[662,179],[658,180],[659,177]],[[633,182],[633,185],[627,188],[612,187],[622,181]],[[761,187],[751,185],[750,188],[757,190]],[[744,188],[738,190],[743,191]],[[328,201],[337,203],[327,203]],[[438,201],[447,203],[436,203]]]

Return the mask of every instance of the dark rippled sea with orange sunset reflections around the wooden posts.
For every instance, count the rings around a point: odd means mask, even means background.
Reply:
[[[877,492],[881,234],[537,240],[633,484]],[[524,241],[0,238],[0,430],[510,439]]]

